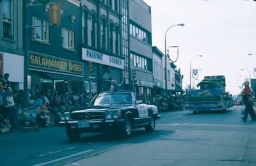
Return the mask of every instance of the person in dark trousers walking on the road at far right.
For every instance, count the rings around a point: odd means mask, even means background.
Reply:
[[[244,117],[241,117],[243,121],[247,121],[248,113],[250,114],[250,117],[252,118],[252,121],[256,120],[256,114],[253,109],[253,102],[252,102],[252,89],[249,86],[249,82],[244,82],[244,89],[241,93],[243,96],[243,100],[245,103],[245,109],[244,109]]]

